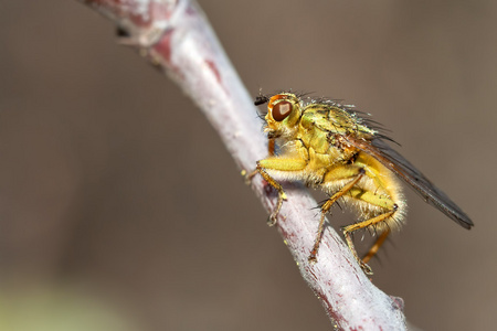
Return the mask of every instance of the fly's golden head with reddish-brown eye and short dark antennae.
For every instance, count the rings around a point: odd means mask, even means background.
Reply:
[[[265,102],[268,104],[264,132],[268,138],[292,138],[302,116],[300,99],[292,93],[281,93],[271,98],[260,97],[255,104]]]

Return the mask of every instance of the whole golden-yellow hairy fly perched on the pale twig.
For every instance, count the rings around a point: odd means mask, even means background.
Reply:
[[[260,173],[278,191],[278,202],[269,224],[286,194],[281,181],[302,181],[320,189],[329,199],[320,206],[321,216],[309,261],[316,261],[324,232],[325,215],[337,202],[357,212],[358,222],[343,228],[347,244],[364,273],[372,274],[367,261],[378,252],[391,229],[405,220],[406,203],[399,179],[414,189],[427,203],[437,207],[465,228],[473,222],[434,186],[416,168],[393,150],[393,141],[373,120],[329,99],[307,99],[288,92],[260,95],[255,105],[267,103],[264,118],[269,139],[268,157],[257,161],[248,179]],[[277,146],[275,151],[274,146]],[[351,234],[367,228],[378,234],[377,242],[363,259],[357,255]]]

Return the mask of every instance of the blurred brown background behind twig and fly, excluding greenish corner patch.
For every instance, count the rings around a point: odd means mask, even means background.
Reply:
[[[409,191],[373,282],[422,329],[493,329],[497,3],[200,4],[254,96],[353,103],[472,216]],[[0,4],[0,292],[70,289],[138,330],[329,330],[205,118],[114,30],[76,1]]]

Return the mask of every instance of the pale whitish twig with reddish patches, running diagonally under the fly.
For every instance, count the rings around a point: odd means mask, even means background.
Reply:
[[[241,169],[252,170],[266,154],[266,139],[253,100],[225,56],[197,3],[188,0],[80,0],[113,20],[139,50],[199,105]],[[267,211],[274,192],[256,177],[253,190]],[[318,263],[307,261],[314,244],[317,205],[297,184],[285,185],[288,200],[277,228],[309,287],[337,330],[405,330],[402,300],[390,298],[364,276],[332,228],[322,237]]]

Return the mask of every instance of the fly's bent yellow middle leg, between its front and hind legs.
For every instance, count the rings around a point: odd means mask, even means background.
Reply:
[[[319,227],[318,233],[316,235],[316,239],[314,242],[313,250],[310,250],[310,255],[308,257],[308,260],[310,263],[316,263],[316,255],[319,250],[319,245],[321,243],[322,233],[325,231],[325,216],[326,213],[329,212],[334,203],[343,196],[347,192],[349,192],[364,175],[364,169],[362,168],[355,168],[355,167],[339,167],[331,171],[329,171],[325,175],[325,182],[332,182],[337,180],[343,180],[347,178],[351,178],[350,182],[348,182],[343,188],[341,188],[338,192],[336,192],[334,195],[331,195],[330,199],[328,199],[325,204],[321,206],[321,218],[319,220]]]

